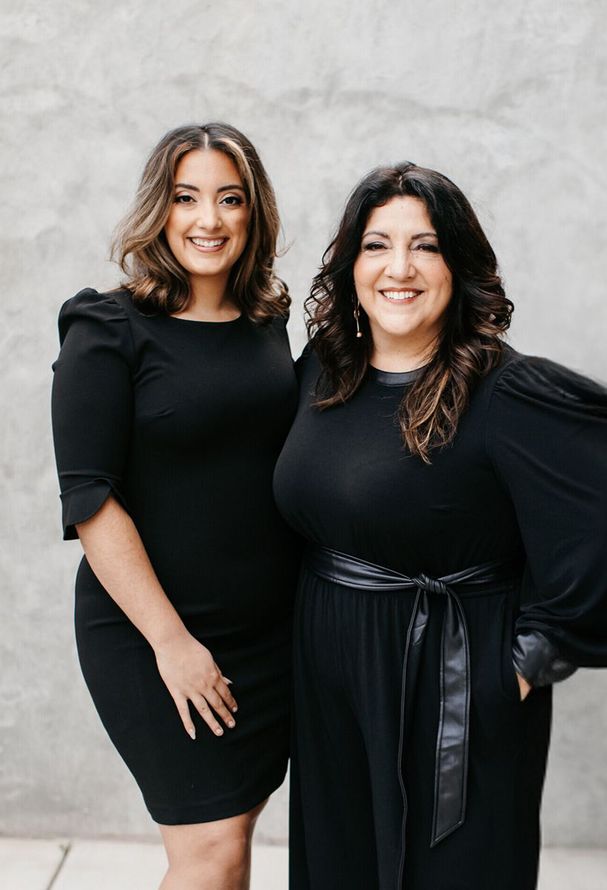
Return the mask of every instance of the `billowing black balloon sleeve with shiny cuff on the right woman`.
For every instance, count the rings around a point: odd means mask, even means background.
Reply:
[[[516,669],[542,686],[607,666],[607,391],[519,356],[496,382],[488,436],[527,556]]]

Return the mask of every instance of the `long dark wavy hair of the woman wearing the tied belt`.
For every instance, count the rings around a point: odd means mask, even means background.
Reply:
[[[433,449],[453,441],[475,383],[499,364],[501,338],[514,309],[493,248],[459,188],[441,173],[409,162],[367,174],[350,195],[337,234],[323,255],[306,300],[306,324],[322,367],[315,404],[330,408],[360,387],[373,347],[362,308],[360,339],[353,316],[353,267],[365,226],[375,207],[405,196],[424,202],[453,277],[453,294],[432,357],[407,388],[398,410],[404,444],[430,463]]]

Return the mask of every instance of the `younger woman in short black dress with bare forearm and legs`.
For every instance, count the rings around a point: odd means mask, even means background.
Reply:
[[[180,127],[115,254],[59,318],[53,422],[84,677],[169,859],[163,890],[244,890],[287,764],[294,538],[272,472],[296,407],[279,220],[249,140]],[[238,701],[238,705],[237,705]]]

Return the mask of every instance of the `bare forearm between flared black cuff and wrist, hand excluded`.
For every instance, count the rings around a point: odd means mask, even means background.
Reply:
[[[77,531],[100,583],[155,650],[187,633],[133,520],[113,498]]]

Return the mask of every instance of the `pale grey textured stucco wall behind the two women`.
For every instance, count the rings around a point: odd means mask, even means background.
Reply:
[[[3,324],[0,832],[154,833],[72,636],[48,424],[56,314],[116,281],[113,226],[181,123],[256,143],[301,301],[345,197],[404,158],[468,194],[516,304],[511,342],[605,379],[603,0],[32,0],[0,4]],[[556,691],[547,843],[607,843],[607,675]],[[499,806],[499,801],[496,802]],[[286,835],[286,790],[260,825]]]

